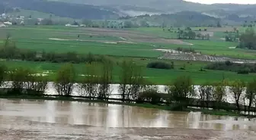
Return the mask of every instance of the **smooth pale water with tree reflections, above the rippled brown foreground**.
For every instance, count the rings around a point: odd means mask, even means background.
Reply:
[[[191,129],[255,129],[255,120],[219,117],[200,112],[130,107],[78,101],[36,101],[0,99],[0,123],[37,121],[102,127],[169,127]]]

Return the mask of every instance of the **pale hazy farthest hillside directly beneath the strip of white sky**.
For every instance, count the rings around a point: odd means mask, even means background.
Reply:
[[[235,11],[246,11],[246,9],[254,8],[256,5],[235,5],[235,4],[214,4],[203,5],[194,2],[185,2],[182,0],[49,0],[58,2],[71,2],[87,5],[104,5],[113,8],[120,8],[124,11],[134,12],[155,12],[162,11],[162,14],[171,14],[179,11],[212,11],[224,10],[227,13],[235,14]],[[129,6],[129,8],[128,8]],[[251,12],[251,11],[249,11]]]

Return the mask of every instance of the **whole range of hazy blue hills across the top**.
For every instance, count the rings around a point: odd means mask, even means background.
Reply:
[[[0,12],[20,8],[56,17],[114,20],[129,15],[133,20],[171,25],[216,25],[217,22],[241,25],[256,20],[256,5],[203,5],[183,0],[0,0]],[[149,14],[149,17],[136,17]],[[144,22],[144,21],[142,21]]]

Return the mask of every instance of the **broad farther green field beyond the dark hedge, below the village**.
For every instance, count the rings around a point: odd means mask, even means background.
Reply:
[[[230,28],[230,27],[229,27]],[[155,48],[175,49],[178,47],[194,48],[202,54],[216,54],[232,58],[256,59],[256,51],[230,48],[238,45],[237,42],[225,42],[220,39],[223,32],[219,28],[213,40],[183,40],[193,45],[173,44],[161,42],[161,39],[177,37],[176,33],[163,32],[162,28],[136,28],[130,30],[91,30],[80,27],[67,26],[11,26],[0,28],[0,39],[11,34],[18,48],[29,48],[42,51],[77,51],[79,53],[108,54],[117,56],[158,58],[162,52]],[[195,29],[196,30],[196,29]],[[225,30],[225,29],[223,29]],[[78,38],[79,35],[79,38]],[[142,36],[141,42],[136,38]],[[158,37],[157,42],[148,42]],[[133,39],[131,39],[133,38]],[[149,38],[149,39],[145,39]],[[181,41],[182,42],[182,41]],[[154,47],[156,46],[156,47]]]

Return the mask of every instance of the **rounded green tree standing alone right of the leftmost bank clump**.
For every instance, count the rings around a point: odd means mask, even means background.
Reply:
[[[75,70],[72,64],[63,65],[56,73],[54,86],[59,95],[72,94],[75,82]]]

